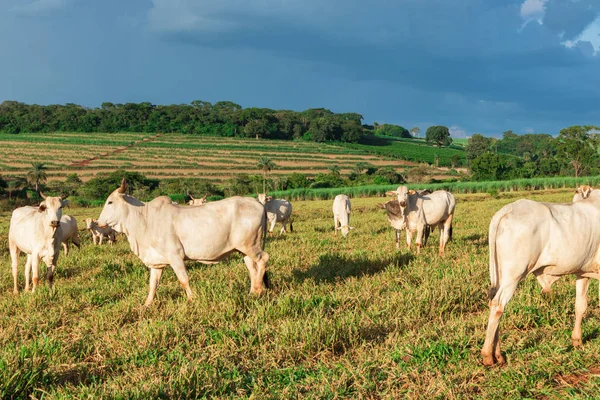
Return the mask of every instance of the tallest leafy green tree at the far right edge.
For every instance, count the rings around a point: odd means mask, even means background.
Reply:
[[[557,137],[559,156],[572,167],[575,177],[585,173],[598,162],[600,140],[594,126],[570,126]]]

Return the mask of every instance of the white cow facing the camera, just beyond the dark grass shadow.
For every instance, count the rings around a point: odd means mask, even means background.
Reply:
[[[423,238],[426,240],[426,231],[435,228],[440,229],[439,255],[444,254],[446,244],[452,238],[452,219],[456,200],[451,193],[445,190],[428,190],[416,192],[408,190],[406,186],[386,193],[388,196],[396,196],[400,207],[404,209],[406,218],[406,243],[408,248],[412,242],[412,234],[417,231],[417,252],[419,252]]]

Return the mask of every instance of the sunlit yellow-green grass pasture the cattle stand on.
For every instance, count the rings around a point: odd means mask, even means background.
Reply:
[[[0,397],[565,398],[598,393],[600,308],[590,285],[583,348],[573,349],[575,288],[522,282],[501,322],[508,365],[485,368],[487,228],[518,198],[567,202],[572,190],[458,194],[454,237],[420,256],[397,250],[383,198],[352,199],[348,238],[331,201],[294,202],[292,234],[267,239],[273,288],[249,296],[240,256],[188,262],[188,302],[170,268],[154,304],[124,238],[61,255],[55,292],[12,293],[9,214],[0,216]],[[80,227],[100,209],[73,208]],[[413,249],[414,250],[414,249]],[[20,263],[20,287],[23,287]],[[42,268],[45,271],[45,268]]]

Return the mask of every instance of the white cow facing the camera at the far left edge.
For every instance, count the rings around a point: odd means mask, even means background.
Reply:
[[[60,254],[62,242],[62,228],[60,220],[63,206],[67,204],[65,197],[44,196],[39,207],[20,207],[13,211],[8,231],[8,247],[12,261],[12,273],[15,293],[19,292],[17,286],[17,267],[19,265],[19,252],[27,254],[25,263],[25,290],[29,290],[29,273],[33,272],[33,289],[39,282],[40,258],[48,266],[48,286],[52,289],[54,268]]]

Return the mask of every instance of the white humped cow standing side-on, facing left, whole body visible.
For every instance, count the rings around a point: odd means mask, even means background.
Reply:
[[[245,255],[250,293],[263,291],[269,254],[262,247],[267,228],[262,204],[235,196],[203,207],[179,207],[166,196],[144,203],[125,194],[126,190],[123,179],[106,199],[98,224],[124,233],[131,251],[150,268],[146,306],[154,299],[165,266],[171,265],[191,300],[184,260],[215,264],[235,251]]]

